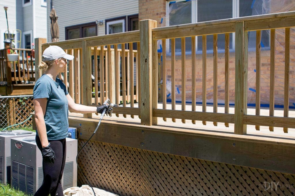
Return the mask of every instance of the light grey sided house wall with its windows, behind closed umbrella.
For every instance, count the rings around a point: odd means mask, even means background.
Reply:
[[[47,4],[48,42],[52,6],[58,16],[60,41],[138,29],[138,0],[51,0]]]

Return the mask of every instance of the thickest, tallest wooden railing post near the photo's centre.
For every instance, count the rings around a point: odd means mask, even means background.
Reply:
[[[153,102],[152,102],[152,28],[157,27],[157,21],[141,20],[140,29],[140,116],[142,125],[152,125]],[[157,65],[155,65],[157,66]],[[157,76],[154,76],[157,78]],[[156,95],[158,96],[158,95]]]

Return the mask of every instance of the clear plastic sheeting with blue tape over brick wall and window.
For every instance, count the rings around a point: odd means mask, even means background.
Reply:
[[[203,21],[219,20],[236,18],[243,16],[254,16],[261,14],[271,14],[285,11],[294,11],[295,1],[294,0],[189,0],[189,1],[167,1],[166,18],[163,18],[161,26],[171,26],[180,25],[187,23],[196,23]],[[224,103],[224,34],[219,34],[217,38],[218,46],[218,103]],[[255,103],[255,88],[256,88],[256,31],[248,32],[248,103]],[[284,89],[284,48],[285,48],[285,31],[284,29],[276,29],[276,40],[275,40],[275,105],[283,105],[283,89]],[[166,41],[167,43],[167,54],[169,57],[171,55],[171,40]],[[202,51],[202,36],[196,37],[196,64],[199,71],[197,82],[202,83],[201,75],[201,51]],[[269,85],[270,85],[270,30],[261,31],[261,71],[260,71],[260,97],[261,104],[269,104]],[[295,35],[294,29],[291,28],[291,40],[290,40],[290,74],[294,73],[295,65],[292,61],[295,58]],[[161,41],[158,43],[158,48],[161,47]],[[169,48],[169,49],[168,49]],[[181,40],[176,38],[176,56],[181,55]],[[213,69],[212,69],[212,48],[213,48],[213,36],[207,35],[207,82],[213,81]],[[234,74],[235,68],[235,33],[230,34],[230,74]],[[191,37],[186,38],[186,66],[191,67]],[[166,62],[170,63],[170,62]],[[176,57],[176,69],[181,68],[180,57]],[[169,66],[167,64],[167,66]],[[187,69],[188,70],[188,69]],[[167,78],[170,80],[171,72],[169,68],[167,69]],[[187,71],[188,72],[188,71]],[[189,75],[191,73],[186,73]],[[186,89],[181,88],[181,74],[176,77],[176,100],[181,101],[181,93],[186,92],[186,101],[191,101],[192,90],[189,89],[190,77],[187,79]],[[234,75],[231,75],[230,80],[230,91],[233,93],[235,91]],[[295,78],[290,77],[290,96],[289,96],[289,106],[295,106]],[[167,81],[170,84],[170,81]],[[198,85],[200,86],[200,85]],[[167,95],[171,93],[171,85],[167,85]],[[202,102],[202,89],[196,89],[196,102]],[[199,95],[199,96],[198,96]],[[171,95],[167,98],[169,99]],[[207,85],[207,102],[213,102],[213,86]],[[232,97],[230,98],[230,103],[234,103]]]

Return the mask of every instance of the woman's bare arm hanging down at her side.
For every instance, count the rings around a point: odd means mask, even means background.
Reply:
[[[48,146],[47,132],[44,120],[46,112],[47,98],[38,98],[33,100],[35,108],[35,122],[37,126],[38,135],[42,144],[42,148]]]

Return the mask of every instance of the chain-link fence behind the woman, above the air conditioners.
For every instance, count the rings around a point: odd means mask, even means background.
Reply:
[[[0,96],[0,130],[32,128],[33,96]]]

